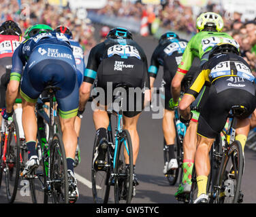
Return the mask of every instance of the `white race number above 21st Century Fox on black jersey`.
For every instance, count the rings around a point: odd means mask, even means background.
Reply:
[[[135,57],[140,58],[140,54],[136,47],[133,47],[131,45],[114,45],[110,48],[108,48],[108,57],[113,56],[114,54],[121,56],[122,58],[128,58],[128,57]]]

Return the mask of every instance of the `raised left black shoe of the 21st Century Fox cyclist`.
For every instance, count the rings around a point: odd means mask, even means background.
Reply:
[[[108,140],[102,138],[99,142],[99,146],[96,147],[96,151],[93,158],[93,165],[95,170],[101,170],[106,165],[106,151],[108,149]]]

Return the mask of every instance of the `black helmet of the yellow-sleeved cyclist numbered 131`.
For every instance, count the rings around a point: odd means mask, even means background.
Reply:
[[[209,59],[212,58],[213,56],[217,56],[220,54],[236,54],[240,56],[240,52],[238,48],[231,44],[231,43],[218,43],[214,47],[212,47],[212,50],[210,51],[209,54]]]

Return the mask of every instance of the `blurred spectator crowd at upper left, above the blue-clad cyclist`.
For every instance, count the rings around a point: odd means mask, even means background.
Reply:
[[[0,0],[0,5],[0,22],[10,19],[18,22],[23,34],[34,24],[47,24],[52,28],[65,25],[70,28],[73,38],[80,42],[85,55],[96,44],[91,20],[79,19],[69,5],[49,5],[47,0]]]

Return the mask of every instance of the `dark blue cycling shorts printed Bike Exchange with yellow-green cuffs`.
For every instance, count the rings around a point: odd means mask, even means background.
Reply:
[[[42,53],[42,50],[47,52]],[[75,117],[78,112],[79,90],[76,62],[69,47],[43,44],[35,47],[29,57],[20,83],[22,98],[35,103],[48,85],[61,88],[55,94],[59,115],[65,119]]]

